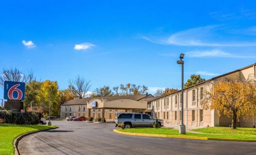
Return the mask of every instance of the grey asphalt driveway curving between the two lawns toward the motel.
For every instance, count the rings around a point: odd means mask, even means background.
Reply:
[[[21,154],[256,154],[256,143],[123,135],[114,123],[53,121],[58,129],[21,139]]]

